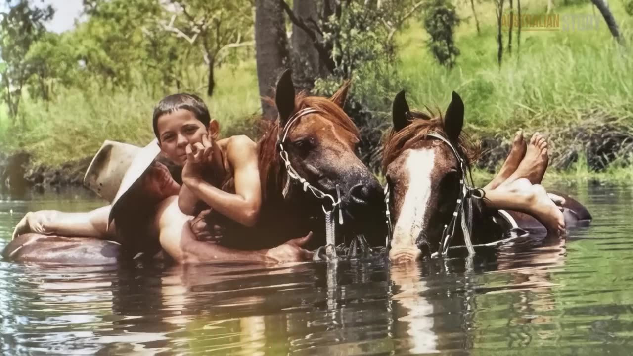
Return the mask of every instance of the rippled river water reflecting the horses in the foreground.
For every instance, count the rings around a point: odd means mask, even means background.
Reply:
[[[560,187],[558,187],[560,189]],[[7,355],[629,355],[633,186],[565,191],[594,215],[565,241],[389,265],[103,268],[0,261]],[[28,210],[83,189],[0,196],[0,248]]]

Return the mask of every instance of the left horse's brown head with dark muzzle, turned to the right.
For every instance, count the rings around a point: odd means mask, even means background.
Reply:
[[[277,83],[275,105],[279,118],[270,132],[274,132],[275,139],[279,137],[275,141],[282,143],[298,177],[336,200],[338,186],[345,232],[364,234],[372,245],[384,244],[386,231],[377,231],[375,224],[368,224],[378,219],[384,226],[384,193],[369,168],[356,156],[359,132],[342,109],[348,88],[349,83],[344,84],[332,98],[296,94],[290,72],[286,71]],[[278,158],[279,153],[278,146],[275,149]],[[285,186],[287,170],[284,162],[280,163]],[[290,189],[298,193],[301,183],[296,179],[291,183]],[[306,205],[310,195],[310,191],[294,194],[306,201]],[[317,204],[327,208],[332,202],[325,199]],[[320,206],[318,210],[323,213]]]

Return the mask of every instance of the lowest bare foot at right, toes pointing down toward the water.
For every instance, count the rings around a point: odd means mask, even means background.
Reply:
[[[548,229],[549,234],[561,236],[565,234],[565,216],[549,195],[541,185],[532,186],[530,204],[525,212],[539,220]]]

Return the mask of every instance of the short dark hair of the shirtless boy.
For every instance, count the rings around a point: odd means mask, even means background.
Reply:
[[[185,92],[168,95],[159,101],[154,107],[152,124],[154,125],[154,135],[156,135],[158,141],[160,141],[160,137],[158,137],[158,118],[180,109],[191,111],[191,113],[194,114],[194,117],[204,124],[204,127],[209,127],[211,115],[209,115],[209,109],[199,96],[195,94],[187,94]]]

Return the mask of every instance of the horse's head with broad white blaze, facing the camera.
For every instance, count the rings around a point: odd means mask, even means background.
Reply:
[[[431,118],[411,111],[403,91],[394,99],[392,115],[382,162],[394,229],[389,255],[418,258],[437,250],[456,207],[463,172],[453,148],[465,157],[460,140],[464,104],[453,92],[444,117]]]

